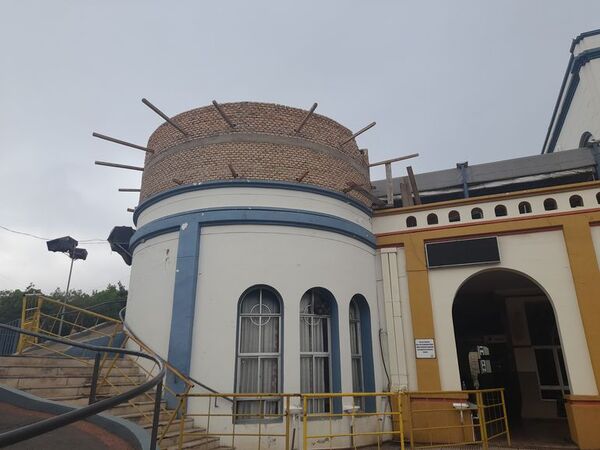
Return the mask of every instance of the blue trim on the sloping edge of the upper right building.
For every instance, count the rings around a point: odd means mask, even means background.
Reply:
[[[598,34],[596,32],[590,32],[593,34]],[[577,91],[577,86],[579,85],[579,71],[581,68],[587,64],[588,62],[600,58],[600,48],[592,48],[590,50],[585,50],[578,54],[577,56],[571,55],[569,59],[569,65],[567,66],[567,71],[565,73],[565,77],[563,79],[563,83],[561,86],[561,91],[559,92],[558,99],[556,100],[556,105],[554,107],[554,113],[552,115],[552,120],[550,121],[550,126],[548,127],[548,133],[546,135],[546,142],[544,143],[544,148],[542,149],[542,153],[552,153],[554,152],[554,147],[556,146],[556,142],[558,141],[558,137],[562,131],[562,127],[567,119],[567,115],[569,113],[569,109],[571,108],[571,102],[573,101],[573,97],[575,97],[575,92]],[[571,80],[569,82],[569,86],[564,89],[567,79],[571,74]],[[564,93],[564,101],[562,107],[560,108],[560,114],[556,114],[563,98]],[[556,119],[556,125],[552,131],[552,137],[550,137],[550,132],[552,130],[552,124]],[[546,146],[546,143],[548,144]]]

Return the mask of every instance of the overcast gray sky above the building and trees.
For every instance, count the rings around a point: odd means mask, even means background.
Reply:
[[[597,1],[0,0],[0,226],[106,238],[131,225],[143,144],[161,120],[212,99],[308,108],[353,130],[371,160],[419,152],[415,171],[539,153],[571,39]],[[395,167],[401,173],[404,167]],[[379,172],[373,178],[381,178]],[[87,244],[72,287],[128,284]],[[69,260],[0,229],[0,289],[64,289]]]

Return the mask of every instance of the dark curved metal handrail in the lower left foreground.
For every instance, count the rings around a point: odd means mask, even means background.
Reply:
[[[158,422],[159,422],[159,414],[157,414],[157,412],[160,409],[163,379],[166,374],[165,365],[163,364],[163,361],[160,358],[158,358],[154,355],[149,355],[149,354],[146,354],[143,352],[137,352],[134,350],[84,344],[84,343],[72,341],[70,339],[64,339],[64,338],[59,338],[59,337],[54,337],[54,336],[48,336],[48,335],[41,334],[41,333],[36,333],[33,331],[27,331],[22,328],[13,327],[13,326],[6,325],[6,324],[0,324],[0,328],[11,330],[11,331],[14,331],[14,332],[20,333],[20,334],[26,334],[28,336],[32,336],[32,337],[36,337],[36,338],[42,338],[42,339],[46,339],[49,341],[58,342],[60,344],[66,344],[66,345],[70,345],[73,347],[83,348],[85,350],[94,351],[97,354],[99,354],[99,353],[117,353],[117,354],[121,354],[121,355],[131,355],[131,356],[137,356],[137,357],[149,359],[149,360],[153,361],[160,369],[158,375],[156,375],[155,377],[151,378],[150,380],[146,381],[145,383],[143,383],[139,386],[135,386],[134,388],[132,388],[131,390],[129,390],[127,392],[123,392],[123,393],[118,394],[111,398],[100,400],[98,402],[92,403],[92,404],[90,404],[88,406],[84,406],[82,408],[74,409],[72,411],[69,411],[64,414],[60,414],[58,416],[50,417],[48,419],[44,419],[39,422],[35,422],[35,423],[29,424],[29,425],[22,426],[15,430],[0,433],[0,447],[15,444],[17,442],[21,442],[21,441],[30,439],[35,436],[39,436],[41,434],[47,433],[47,432],[55,430],[57,428],[64,427],[66,425],[77,422],[79,420],[86,419],[86,418],[93,416],[95,414],[98,414],[102,411],[106,411],[107,409],[115,407],[127,400],[131,400],[132,398],[137,397],[138,395],[141,395],[141,394],[151,390],[152,388],[156,387],[156,396],[155,396],[155,402],[154,402],[154,416],[153,416],[153,422],[152,422],[152,435],[151,435],[151,440],[150,440],[150,450],[156,449],[156,438],[158,435]],[[95,365],[95,370],[97,370],[97,364]],[[97,374],[94,374],[94,378],[97,379]],[[93,391],[94,391],[94,388],[92,386],[92,389],[90,390],[90,394],[93,394]]]

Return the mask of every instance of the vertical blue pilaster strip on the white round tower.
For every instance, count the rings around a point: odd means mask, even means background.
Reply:
[[[168,355],[169,364],[186,375],[190,373],[192,359],[199,252],[200,227],[198,222],[188,222],[179,231]],[[167,374],[166,383],[175,393],[182,393],[185,389],[184,383],[172,372]],[[177,405],[177,398],[172,394],[165,397],[169,406]]]

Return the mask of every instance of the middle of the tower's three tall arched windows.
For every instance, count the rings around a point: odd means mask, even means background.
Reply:
[[[337,303],[331,292],[312,288],[300,300],[300,390],[340,392]],[[310,412],[330,412],[330,399],[311,399]],[[340,404],[341,406],[341,404]],[[338,409],[334,404],[334,409]]]

